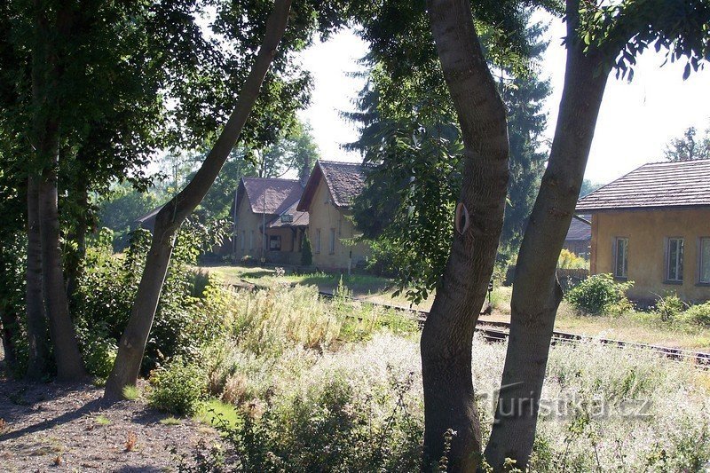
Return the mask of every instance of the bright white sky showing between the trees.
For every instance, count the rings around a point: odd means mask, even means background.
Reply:
[[[550,20],[548,18],[548,20]],[[561,20],[551,20],[549,47],[542,61],[542,77],[548,77],[552,94],[547,101],[548,130],[552,139],[557,108],[564,83],[565,51]],[[332,161],[360,160],[359,154],[346,153],[343,143],[358,138],[356,127],[346,122],[340,111],[352,110],[352,100],[364,79],[351,77],[362,69],[357,63],[367,52],[367,43],[351,30],[334,35],[326,43],[313,44],[304,51],[302,61],[314,80],[312,103],[300,116],[311,123],[321,157]],[[682,80],[684,62],[664,62],[663,51],[653,49],[638,58],[632,83],[617,80],[613,73],[607,83],[604,101],[596,123],[585,177],[604,184],[646,162],[663,159],[668,141],[695,126],[710,127],[710,66]]]

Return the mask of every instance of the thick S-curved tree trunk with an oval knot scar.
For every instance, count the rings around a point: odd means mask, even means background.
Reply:
[[[422,331],[422,469],[474,471],[481,437],[471,379],[471,343],[493,272],[508,183],[505,108],[485,62],[466,0],[429,0],[431,29],[461,125],[464,171],[459,207],[469,225],[451,253]],[[464,228],[465,227],[465,228]],[[446,452],[447,430],[456,433]]]

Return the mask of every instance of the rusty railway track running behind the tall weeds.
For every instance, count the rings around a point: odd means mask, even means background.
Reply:
[[[237,288],[248,288],[251,290],[264,289],[266,286],[261,286],[250,282],[248,280],[241,280],[241,285],[233,285]],[[319,291],[319,296],[327,299],[332,299],[335,296],[327,291]],[[369,301],[367,299],[360,299],[359,297],[347,297],[353,302],[359,302],[363,304],[373,304],[386,309],[391,309],[394,311],[406,312],[412,319],[416,320],[420,328],[423,327],[426,322],[428,311],[422,311],[418,309],[411,309],[406,306],[396,305],[396,304],[384,304],[376,301]],[[510,331],[509,322],[501,322],[496,320],[485,320],[478,319],[477,333],[482,335],[485,340],[493,343],[505,342],[508,339]],[[663,347],[658,345],[651,345],[646,343],[635,343],[635,342],[625,342],[621,340],[614,340],[610,338],[596,338],[588,335],[578,335],[570,334],[567,332],[553,332],[551,344],[579,344],[588,341],[596,341],[598,343],[604,343],[606,345],[616,346],[619,348],[639,350],[639,351],[654,351],[666,357],[667,359],[681,362],[690,363],[695,367],[702,369],[710,369],[710,353],[702,351],[689,351],[682,350],[679,348]]]

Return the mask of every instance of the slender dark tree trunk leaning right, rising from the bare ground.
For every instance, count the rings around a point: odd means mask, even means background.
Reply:
[[[114,369],[106,382],[105,398],[121,398],[123,387],[135,384],[138,379],[141,359],[143,359],[148,335],[153,326],[155,310],[170,264],[170,255],[177,229],[209,191],[209,187],[214,183],[217,174],[237,142],[241,129],[256,102],[259,89],[271,66],[281,37],[286,30],[290,8],[291,0],[276,0],[273,12],[266,22],[264,42],[225,129],[222,130],[217,138],[217,143],[209,151],[193,180],[165,204],[155,217],[153,240],[146,257],[146,267],[138,285],[136,302],[130,312],[128,326],[119,343]]]

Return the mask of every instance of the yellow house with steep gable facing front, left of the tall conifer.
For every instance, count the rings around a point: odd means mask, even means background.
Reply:
[[[313,265],[319,270],[347,271],[362,266],[370,256],[367,243],[353,241],[359,232],[351,205],[364,185],[361,164],[316,162],[296,209],[308,212]]]

